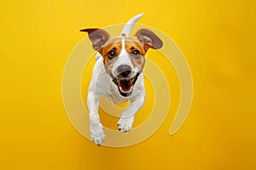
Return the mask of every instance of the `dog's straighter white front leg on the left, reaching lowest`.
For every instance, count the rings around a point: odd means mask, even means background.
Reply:
[[[88,92],[87,106],[90,112],[90,137],[94,143],[100,145],[105,139],[105,134],[98,114],[99,96],[96,96],[92,91]]]

